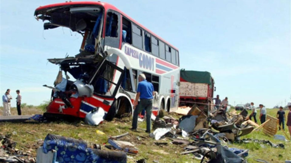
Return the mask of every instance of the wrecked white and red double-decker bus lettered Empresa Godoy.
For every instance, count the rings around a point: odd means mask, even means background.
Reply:
[[[83,36],[75,56],[48,59],[76,80],[61,78],[55,83],[56,98],[47,107],[47,116],[84,118],[93,108],[102,108],[106,120],[131,115],[140,73],[157,92],[153,114],[178,107],[178,49],[113,5],[57,3],[37,8],[34,15],[45,22],[45,30],[68,27]]]

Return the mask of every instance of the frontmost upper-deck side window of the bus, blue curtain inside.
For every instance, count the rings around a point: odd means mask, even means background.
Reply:
[[[105,36],[118,37],[118,16],[115,13],[108,12],[106,17]]]

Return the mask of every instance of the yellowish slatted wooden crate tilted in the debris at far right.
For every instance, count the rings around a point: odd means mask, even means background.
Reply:
[[[266,120],[269,119],[270,121],[263,126],[263,133],[273,137],[277,133],[279,120],[275,117],[267,115]]]

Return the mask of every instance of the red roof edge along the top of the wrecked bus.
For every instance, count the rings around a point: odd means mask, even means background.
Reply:
[[[157,37],[159,40],[162,40],[164,43],[166,43],[169,46],[172,46],[173,48],[175,48],[176,50],[178,50],[175,46],[173,46],[169,42],[163,40],[161,37],[159,37],[158,35],[156,35],[155,33],[153,33],[151,30],[149,30],[146,27],[144,27],[142,24],[139,24],[137,21],[135,21],[134,19],[132,19],[131,17],[129,17],[124,12],[120,11],[115,6],[113,6],[113,5],[109,4],[109,3],[106,3],[106,2],[100,2],[100,1],[98,1],[98,2],[89,2],[89,1],[84,1],[84,2],[63,2],[63,3],[55,3],[55,4],[51,4],[51,5],[45,5],[45,6],[38,7],[37,9],[35,9],[35,13],[34,14],[37,15],[38,11],[43,10],[43,9],[60,7],[60,6],[67,6],[67,5],[101,5],[101,6],[103,6],[105,8],[105,11],[107,11],[108,9],[115,10],[115,11],[119,12],[120,14],[124,15],[126,18],[128,18],[133,23],[135,23],[138,26],[142,27],[144,30],[147,30],[147,32],[151,33],[152,35],[154,35],[155,37]]]

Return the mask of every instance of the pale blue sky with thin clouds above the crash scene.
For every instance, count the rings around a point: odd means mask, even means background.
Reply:
[[[0,92],[20,89],[23,102],[50,98],[58,66],[47,58],[78,53],[82,36],[43,30],[34,10],[64,1],[1,1]],[[211,72],[230,104],[273,107],[290,101],[290,1],[106,1],[179,48],[180,67]],[[1,102],[2,105],[2,102]],[[13,99],[12,105],[15,105]]]

